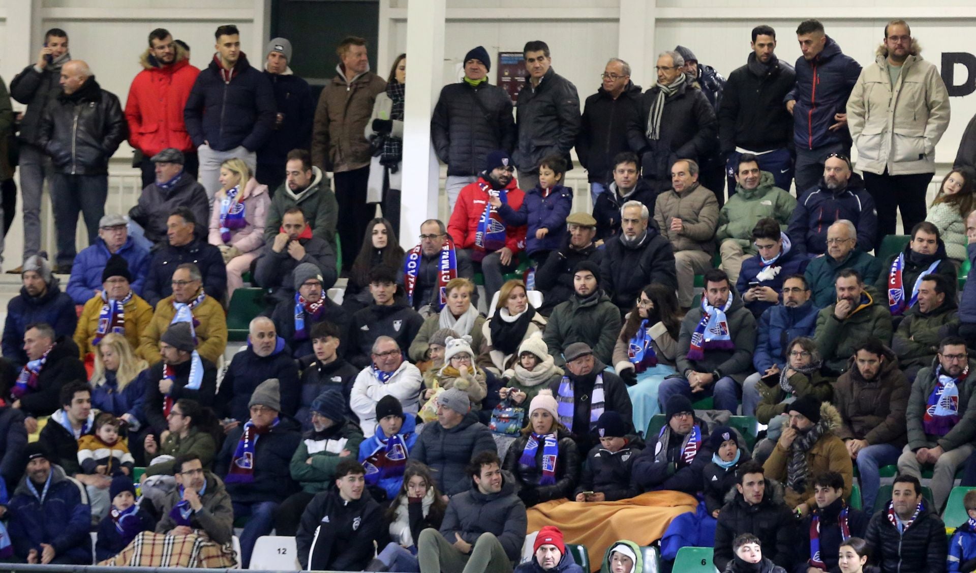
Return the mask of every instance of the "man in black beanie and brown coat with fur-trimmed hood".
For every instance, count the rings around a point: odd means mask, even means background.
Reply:
[[[813,477],[836,471],[844,479],[844,499],[850,498],[853,469],[851,457],[836,431],[840,414],[830,402],[813,394],[796,398],[788,412],[790,427],[783,430],[763,467],[771,479],[786,484],[787,507],[800,516],[810,513],[814,498]]]

